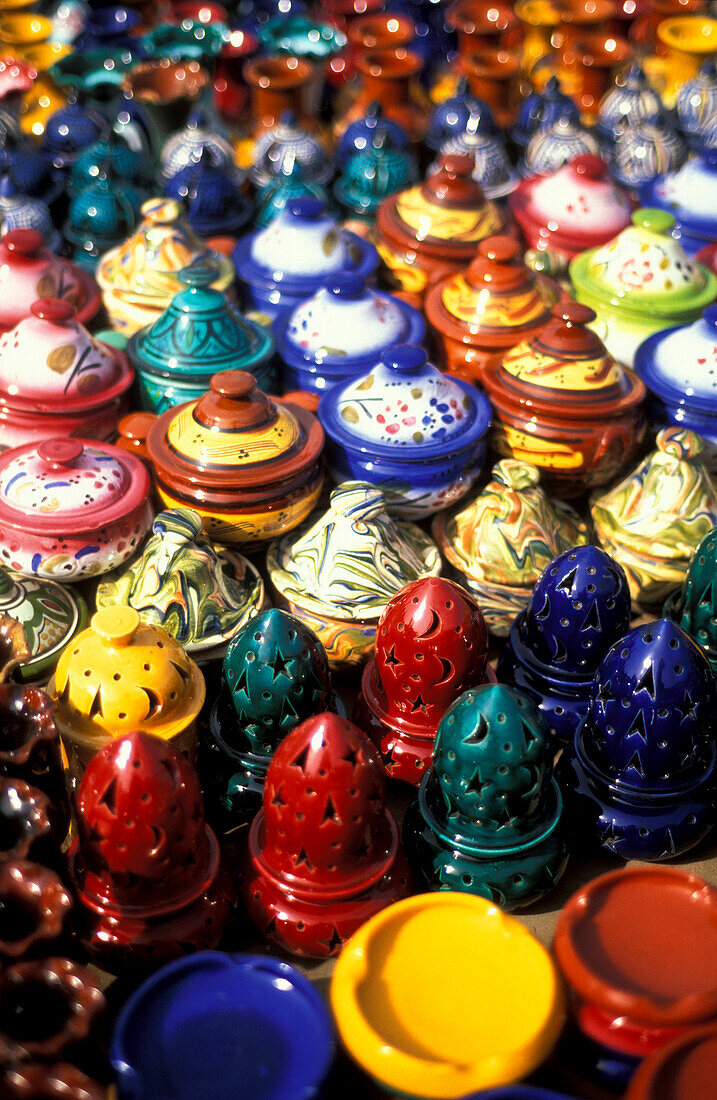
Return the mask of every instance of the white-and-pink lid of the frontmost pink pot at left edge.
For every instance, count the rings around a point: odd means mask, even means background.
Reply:
[[[0,521],[25,531],[77,534],[122,519],[150,495],[134,455],[88,439],[46,439],[0,455]]]

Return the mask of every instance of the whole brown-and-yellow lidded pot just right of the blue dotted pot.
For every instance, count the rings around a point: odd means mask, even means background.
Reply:
[[[494,450],[538,466],[559,496],[580,496],[614,481],[637,452],[646,389],[586,327],[592,309],[566,301],[552,315],[500,365],[485,369],[483,384],[494,407]]]

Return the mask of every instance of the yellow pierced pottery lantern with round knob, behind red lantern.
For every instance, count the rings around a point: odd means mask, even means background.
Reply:
[[[96,612],[60,657],[47,691],[75,782],[104,745],[132,730],[196,756],[203,676],[178,641],[142,623],[133,607]]]

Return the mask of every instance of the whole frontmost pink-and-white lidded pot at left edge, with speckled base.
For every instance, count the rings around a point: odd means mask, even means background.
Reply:
[[[150,528],[150,479],[110,443],[51,438],[0,455],[0,558],[54,581],[115,569]]]

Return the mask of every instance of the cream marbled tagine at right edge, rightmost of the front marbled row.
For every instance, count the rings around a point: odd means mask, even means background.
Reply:
[[[597,537],[624,566],[632,598],[662,606],[685,579],[693,554],[717,524],[715,486],[703,442],[663,428],[657,449],[625,481],[593,499]]]

